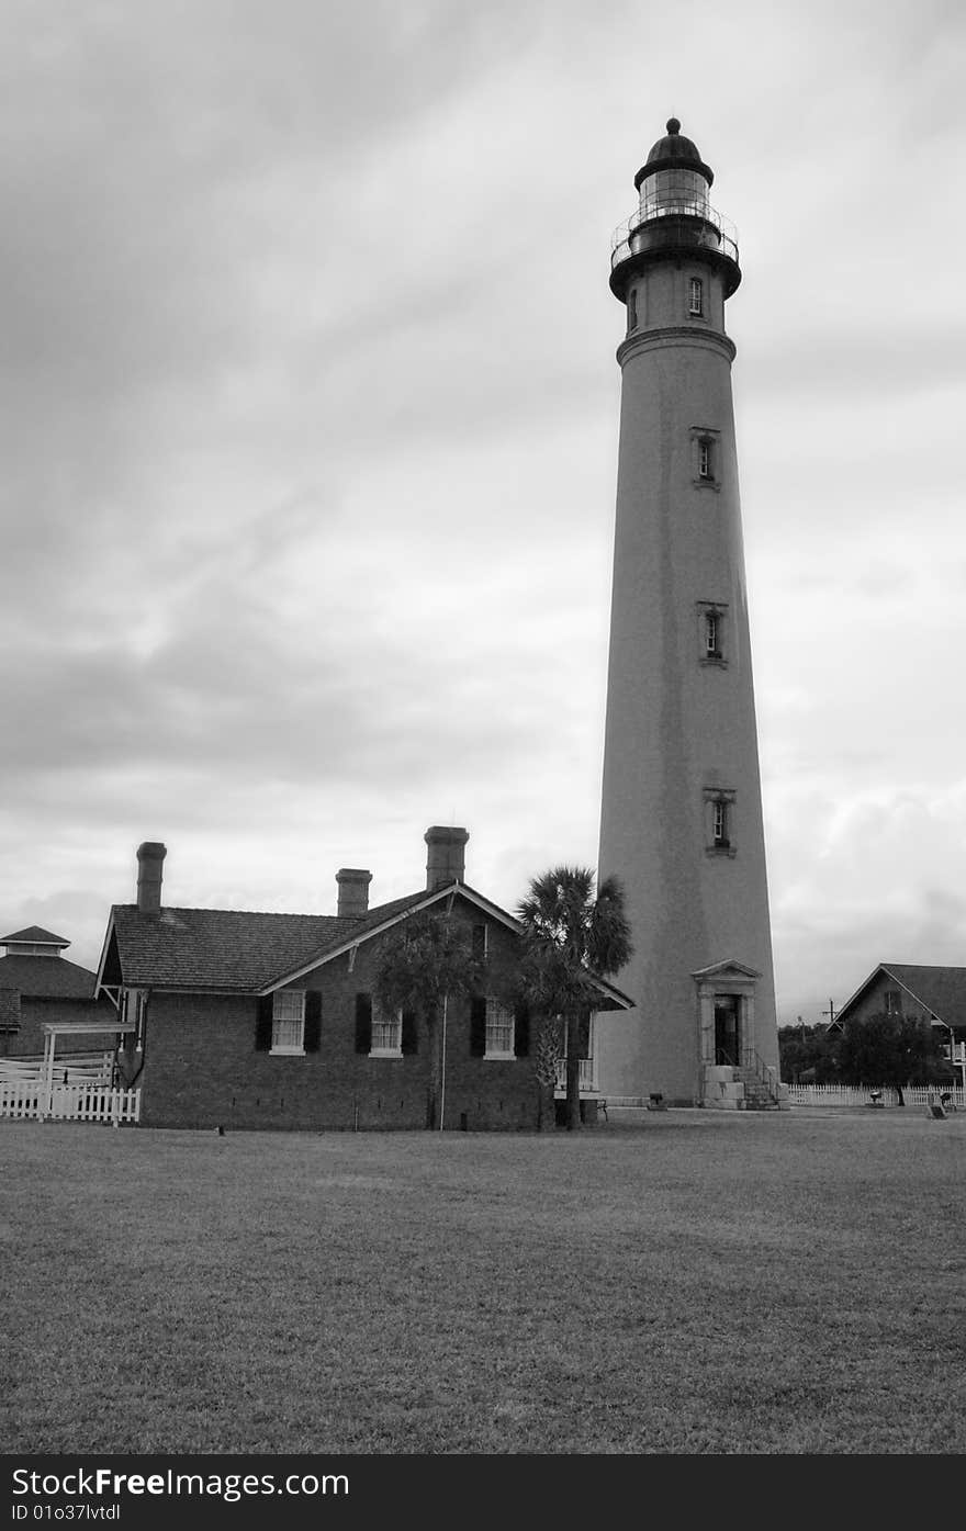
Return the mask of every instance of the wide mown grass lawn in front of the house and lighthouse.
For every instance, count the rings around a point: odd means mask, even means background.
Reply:
[[[966,1450],[966,1115],[629,1116],[2,1121],[3,1450]]]

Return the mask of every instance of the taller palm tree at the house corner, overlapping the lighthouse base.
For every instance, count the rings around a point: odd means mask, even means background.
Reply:
[[[617,877],[605,877],[594,897],[589,867],[554,867],[533,879],[516,917],[524,926],[524,995],[566,1024],[566,1128],[573,1131],[580,1124],[580,1020],[600,1000],[591,975],[609,978],[634,951],[623,888]]]

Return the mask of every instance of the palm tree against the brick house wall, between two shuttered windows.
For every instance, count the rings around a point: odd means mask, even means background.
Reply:
[[[439,1127],[442,1095],[442,1014],[447,1000],[485,986],[487,963],[473,951],[468,928],[449,914],[410,916],[383,943],[374,989],[381,1009],[415,1010],[426,1023],[429,1082],[426,1125]]]

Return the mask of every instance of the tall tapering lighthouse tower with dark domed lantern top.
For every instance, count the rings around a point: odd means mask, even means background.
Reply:
[[[671,118],[614,236],[626,306],[600,876],[626,893],[637,1000],[599,1017],[599,1087],[778,1104],[772,934],[749,646],[735,346],[741,282],[713,181]]]

